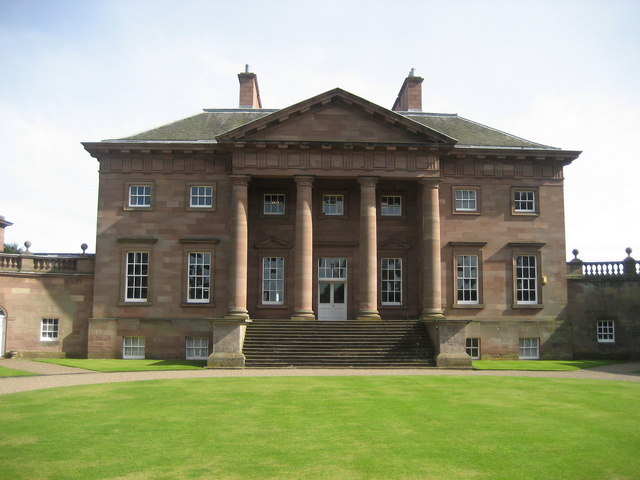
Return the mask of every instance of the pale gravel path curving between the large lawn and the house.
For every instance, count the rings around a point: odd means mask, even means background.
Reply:
[[[640,382],[640,362],[620,363],[573,370],[570,372],[530,372],[509,370],[440,370],[440,369],[243,369],[243,370],[173,370],[155,372],[98,373],[29,360],[0,359],[0,366],[40,373],[39,376],[1,377],[0,394],[40,390],[43,388],[90,385],[98,383],[137,382],[173,378],[220,377],[325,377],[367,375],[470,375],[495,377],[579,378],[585,380],[623,380]]]

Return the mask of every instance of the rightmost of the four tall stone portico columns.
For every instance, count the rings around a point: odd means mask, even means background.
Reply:
[[[422,179],[422,315],[423,320],[442,315],[440,268],[439,178]]]

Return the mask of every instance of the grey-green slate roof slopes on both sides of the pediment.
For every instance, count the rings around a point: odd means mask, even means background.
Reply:
[[[118,141],[215,142],[215,137],[278,110],[267,109],[205,109],[203,113],[118,139]],[[559,150],[555,147],[525,140],[457,114],[396,112],[458,141],[457,147],[498,147]]]

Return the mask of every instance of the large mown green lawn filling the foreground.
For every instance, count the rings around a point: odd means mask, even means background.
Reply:
[[[11,479],[637,479],[640,383],[158,380],[0,397]]]

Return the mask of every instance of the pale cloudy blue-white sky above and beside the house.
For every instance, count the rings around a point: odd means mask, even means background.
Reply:
[[[567,256],[640,258],[640,1],[0,0],[5,242],[95,249],[98,163],[81,141],[335,87],[584,153],[565,169]]]

